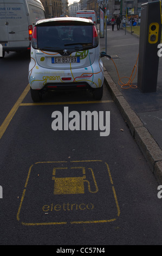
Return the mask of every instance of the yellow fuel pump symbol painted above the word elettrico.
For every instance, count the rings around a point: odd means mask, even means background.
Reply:
[[[64,168],[54,168],[53,169],[53,180],[54,183],[54,194],[84,194],[85,193],[85,184],[88,184],[88,191],[90,193],[96,193],[99,191],[98,185],[96,184],[95,176],[93,173],[93,170],[91,168],[88,168],[92,174],[92,180],[95,186],[95,190],[92,191],[90,188],[90,182],[86,179],[86,169],[85,167],[71,167],[71,170],[76,169],[82,170],[82,176],[64,176],[64,177],[56,177],[56,170],[59,173],[61,170],[68,170],[67,167]]]

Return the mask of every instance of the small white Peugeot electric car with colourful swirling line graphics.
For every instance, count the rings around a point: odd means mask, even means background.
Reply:
[[[93,21],[76,17],[40,20],[33,29],[29,84],[33,101],[43,90],[90,89],[103,94],[103,63]]]

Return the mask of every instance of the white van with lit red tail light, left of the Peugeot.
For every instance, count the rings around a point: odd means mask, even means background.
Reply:
[[[0,44],[3,57],[5,52],[30,50],[33,27],[45,16],[40,0],[0,0]]]

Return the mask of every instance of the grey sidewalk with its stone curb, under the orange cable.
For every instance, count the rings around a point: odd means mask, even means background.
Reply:
[[[133,29],[132,29],[133,31]],[[100,38],[100,50],[105,51],[105,38]],[[139,37],[124,29],[114,31],[107,26],[107,54],[112,56],[119,76],[130,77],[139,51]],[[162,184],[162,57],[159,58],[157,92],[141,93],[138,88],[122,89],[114,63],[102,58],[105,79],[113,99],[127,122],[151,170]],[[153,64],[153,63],[152,63]],[[133,84],[137,85],[137,74]],[[122,80],[126,83],[128,80]],[[132,153],[133,154],[133,153]]]

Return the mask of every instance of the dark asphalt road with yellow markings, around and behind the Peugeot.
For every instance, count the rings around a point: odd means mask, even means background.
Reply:
[[[99,102],[58,92],[33,104],[29,60],[0,59],[1,245],[161,245],[158,183],[106,85]],[[94,130],[92,118],[84,130],[87,111],[107,126]],[[63,126],[54,131],[56,113]]]

